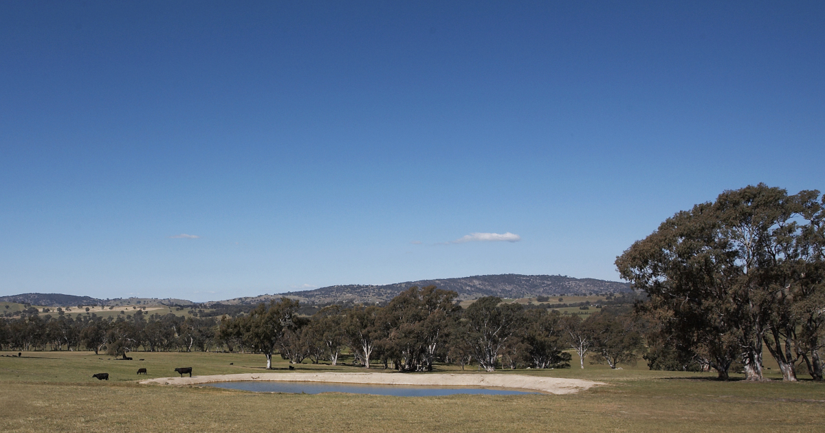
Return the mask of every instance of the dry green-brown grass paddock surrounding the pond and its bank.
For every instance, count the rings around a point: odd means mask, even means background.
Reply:
[[[495,373],[596,379],[607,384],[573,395],[397,398],[144,386],[137,384],[135,374],[145,367],[150,378],[167,377],[178,366],[191,366],[196,375],[262,371],[262,355],[133,352],[132,361],[93,352],[23,355],[0,357],[0,431],[825,430],[825,384],[717,382],[713,374],[649,371],[642,362],[621,370],[586,363],[583,370]],[[287,370],[281,360],[275,367]],[[438,369],[461,373],[452,366]],[[298,366],[298,371],[311,370],[364,371]],[[92,379],[97,372],[111,374],[111,380]],[[473,368],[465,371],[474,372]]]

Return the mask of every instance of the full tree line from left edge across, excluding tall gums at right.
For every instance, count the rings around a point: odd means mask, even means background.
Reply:
[[[569,366],[571,348],[615,368],[635,360],[643,348],[634,326],[625,329],[632,337],[624,346],[615,341],[616,323],[634,323],[629,311],[607,307],[582,320],[496,297],[460,308],[456,297],[435,286],[412,287],[384,307],[332,305],[312,316],[300,315],[299,303],[283,298],[220,320],[140,310],[117,318],[32,313],[0,322],[0,347],[123,357],[131,351],[243,351],[264,355],[267,369],[273,355],[295,364],[338,365],[347,353],[352,365],[399,371],[430,371],[436,362],[488,371],[562,368]]]

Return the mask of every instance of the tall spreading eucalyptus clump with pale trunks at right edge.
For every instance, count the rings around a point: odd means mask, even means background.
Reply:
[[[764,184],[724,191],[664,221],[616,266],[719,378],[738,360],[747,379],[763,379],[767,346],[784,379],[796,380],[795,363],[818,363],[821,347],[822,332],[804,331],[822,327],[825,308],[818,200],[818,191],[789,195]]]

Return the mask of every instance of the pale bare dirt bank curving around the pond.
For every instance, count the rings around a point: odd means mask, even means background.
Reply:
[[[401,374],[401,373],[243,373],[141,380],[140,384],[189,385],[238,380],[335,382],[339,384],[431,385],[530,389],[553,394],[577,393],[601,382],[545,378],[521,374]]]

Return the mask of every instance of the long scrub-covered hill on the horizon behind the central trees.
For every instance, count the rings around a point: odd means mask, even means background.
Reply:
[[[531,298],[539,295],[600,294],[632,291],[629,283],[573,278],[563,275],[476,275],[444,280],[419,280],[392,285],[332,285],[321,289],[287,292],[269,295],[267,298],[286,296],[310,304],[328,303],[383,303],[393,299],[413,285],[436,285],[439,289],[454,290],[459,299],[478,299],[482,296],[500,298]],[[260,297],[258,297],[260,298]],[[252,299],[249,299],[252,301]],[[254,302],[254,301],[252,301]]]

